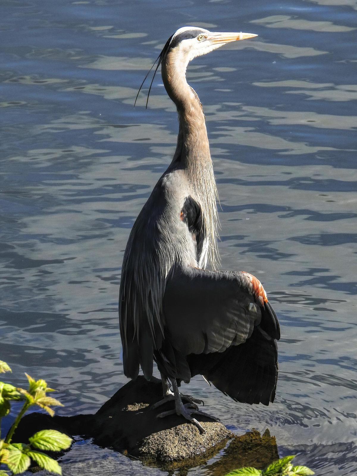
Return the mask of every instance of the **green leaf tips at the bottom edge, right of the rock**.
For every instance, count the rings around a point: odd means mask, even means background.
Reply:
[[[252,467],[235,469],[226,476],[310,476],[315,474],[307,466],[293,466],[291,460],[294,458],[295,456],[285,456],[278,461],[273,461],[265,469]]]

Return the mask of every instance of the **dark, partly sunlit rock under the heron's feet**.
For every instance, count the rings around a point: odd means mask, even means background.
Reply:
[[[93,438],[93,443],[143,459],[149,466],[155,465],[162,468],[165,466],[167,470],[181,467],[184,473],[184,468],[204,464],[215,456],[231,438],[234,439],[225,450],[227,455],[247,453],[250,447],[253,448],[252,451],[256,457],[259,454],[258,447],[267,446],[268,436],[260,438],[258,434],[260,440],[256,433],[234,436],[221,423],[205,417],[198,416],[197,418],[206,430],[203,435],[199,433],[196,426],[186,423],[177,415],[157,418],[158,413],[174,408],[174,403],[168,402],[158,409],[153,409],[152,404],[161,398],[160,380],[148,382],[144,377],[138,377],[135,381],[130,381],[121,387],[94,415],[51,418],[45,414],[31,413],[21,420],[14,435],[14,441],[25,442],[37,431],[56,429],[69,436],[80,435]],[[274,444],[276,448],[275,439]],[[276,451],[274,457],[269,457],[267,462],[277,457]],[[218,463],[219,461],[214,465]],[[214,470],[216,467],[214,465],[209,467]],[[234,468],[229,466],[229,469],[235,469],[238,466]],[[219,474],[219,471],[212,474]]]

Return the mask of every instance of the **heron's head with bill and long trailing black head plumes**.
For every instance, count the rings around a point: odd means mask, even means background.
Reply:
[[[151,80],[146,106],[148,106],[151,85],[160,64],[164,66],[163,80],[165,83],[164,76],[167,76],[167,67],[169,66],[167,63],[171,63],[170,66],[175,66],[176,73],[181,72],[185,74],[188,63],[197,56],[205,55],[210,51],[217,50],[217,48],[225,45],[226,43],[238,40],[247,40],[248,38],[254,38],[256,36],[258,35],[255,35],[254,33],[224,33],[218,31],[208,31],[198,27],[179,28],[172,36],[170,36],[169,40],[167,40],[164,48],[161,50],[161,53],[155,61],[155,63],[158,62],[158,64]],[[155,63],[151,66],[149,72],[155,66]],[[149,72],[145,76],[145,79],[147,79],[149,76]],[[145,79],[141,83],[135,103],[138,99],[140,89],[144,84]]]

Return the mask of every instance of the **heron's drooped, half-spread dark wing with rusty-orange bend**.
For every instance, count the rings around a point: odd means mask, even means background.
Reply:
[[[173,269],[164,294],[160,371],[188,382],[204,375],[239,402],[275,397],[278,318],[257,278],[245,272]]]

